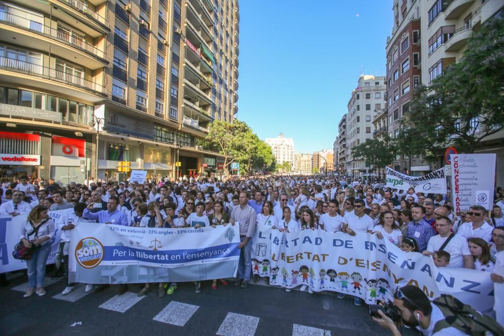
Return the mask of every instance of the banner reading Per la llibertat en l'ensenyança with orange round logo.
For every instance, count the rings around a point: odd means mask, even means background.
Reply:
[[[70,282],[122,284],[235,277],[237,225],[165,229],[77,226],[70,240]]]

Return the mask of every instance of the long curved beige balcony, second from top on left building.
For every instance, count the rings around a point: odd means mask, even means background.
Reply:
[[[81,38],[16,15],[0,15],[0,33],[4,40],[15,39],[17,44],[27,48],[47,53],[50,49],[51,53],[61,56],[68,56],[70,53],[74,56],[74,62],[92,70],[108,64],[102,50]]]

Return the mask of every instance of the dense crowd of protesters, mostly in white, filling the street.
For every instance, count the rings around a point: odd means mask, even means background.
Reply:
[[[469,211],[455,213],[450,195],[391,189],[381,181],[336,175],[200,177],[124,181],[117,186],[112,182],[72,182],[66,187],[22,176],[2,186],[0,216],[29,213],[20,239],[27,247],[39,247],[27,262],[30,289],[25,297],[45,294],[45,263],[56,227],[61,232],[57,277],[64,278],[68,277],[71,231],[80,223],[158,228],[239,225],[241,254],[234,285],[246,288],[252,275],[251,237],[256,225],[264,224],[285,232],[311,229],[352,236],[374,234],[404,251],[431,256],[438,267],[489,272],[495,283],[497,321],[504,321],[504,193],[500,188],[495,189],[492,209],[474,205]],[[48,211],[56,210],[65,212],[54,223]],[[257,282],[258,277],[253,280]],[[227,285],[226,280],[216,279],[211,288],[216,289],[218,283]],[[69,294],[74,285],[70,283],[62,294]],[[145,284],[138,295],[145,295],[151,285]],[[176,283],[157,285],[160,297],[177,288]],[[194,285],[195,291],[201,292],[201,282]],[[87,285],[86,291],[100,288]],[[312,293],[306,285],[301,287],[306,289]],[[119,294],[126,290],[127,285],[121,285]],[[354,303],[361,305],[362,301],[355,297]]]

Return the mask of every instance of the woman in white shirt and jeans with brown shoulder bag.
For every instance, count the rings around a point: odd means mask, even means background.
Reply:
[[[30,288],[24,294],[25,298],[32,296],[33,293],[37,293],[38,296],[46,294],[45,264],[51,252],[51,239],[55,231],[54,223],[47,214],[48,210],[45,206],[36,206],[21,226],[19,238],[27,248],[34,247],[31,259],[26,260]]]

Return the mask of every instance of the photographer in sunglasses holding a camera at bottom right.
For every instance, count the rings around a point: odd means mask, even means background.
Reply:
[[[437,322],[445,319],[445,315],[434,303],[431,303],[427,295],[418,287],[408,285],[399,288],[394,294],[394,304],[401,315],[402,324],[410,328],[418,329],[425,336],[457,336],[466,335],[462,330],[455,327],[446,327],[437,332],[434,327]],[[392,331],[394,336],[401,335],[400,327],[390,317],[379,311],[381,318],[372,319],[381,326]]]

